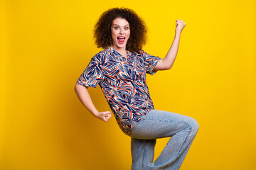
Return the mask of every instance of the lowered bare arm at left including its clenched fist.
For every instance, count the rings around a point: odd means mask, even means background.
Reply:
[[[105,111],[105,112],[99,112],[95,108],[94,104],[92,103],[92,99],[90,98],[90,95],[87,91],[88,87],[75,84],[75,94],[78,95],[79,100],[81,101],[82,105],[87,108],[92,115],[94,115],[96,118],[103,120],[105,122],[108,122],[111,118],[111,112]]]

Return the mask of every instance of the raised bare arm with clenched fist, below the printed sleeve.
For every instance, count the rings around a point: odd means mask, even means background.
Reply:
[[[164,59],[160,60],[156,64],[156,66],[154,67],[154,70],[171,69],[178,53],[178,45],[181,39],[181,32],[185,26],[186,26],[186,23],[184,23],[184,21],[176,20],[176,30],[175,30],[174,41],[172,42],[166,57],[164,57]]]

